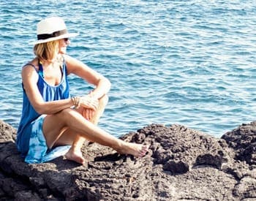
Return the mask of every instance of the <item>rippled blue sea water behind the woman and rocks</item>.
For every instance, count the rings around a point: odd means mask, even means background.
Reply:
[[[148,124],[182,124],[216,137],[256,119],[256,1],[1,1],[0,119],[18,127],[20,69],[36,24],[58,15],[70,56],[108,77],[99,123],[121,136]],[[71,76],[72,94],[91,86]]]

